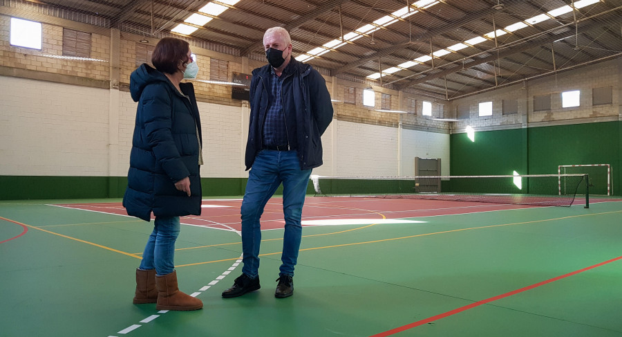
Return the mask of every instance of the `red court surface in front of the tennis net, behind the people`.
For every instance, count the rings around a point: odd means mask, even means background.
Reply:
[[[596,200],[595,200],[596,201]],[[605,201],[605,200],[602,200]],[[608,200],[610,201],[610,200]],[[204,199],[200,216],[182,217],[182,224],[205,226],[222,230],[241,230],[240,206],[242,199]],[[574,207],[585,201],[576,199]],[[93,212],[127,215],[121,203],[70,203],[56,206],[77,208]],[[350,197],[308,197],[303,208],[303,226],[362,223],[372,224],[370,220],[404,219],[413,217],[432,217],[437,215],[457,215],[474,212],[491,212],[540,206],[505,205],[467,201],[438,201],[422,199],[381,199]],[[358,221],[357,221],[358,220]],[[268,201],[261,217],[263,230],[283,228],[283,206],[281,197]]]

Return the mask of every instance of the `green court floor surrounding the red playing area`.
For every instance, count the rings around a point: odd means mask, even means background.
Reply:
[[[153,223],[51,206],[73,202],[0,203],[0,336],[622,336],[622,201],[305,227],[284,299],[282,230],[262,288],[223,299],[240,236],[182,226],[180,289],[204,307],[164,313],[131,302]]]

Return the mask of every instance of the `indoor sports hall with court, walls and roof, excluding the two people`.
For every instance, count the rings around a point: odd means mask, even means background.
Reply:
[[[619,0],[0,0],[0,336],[622,336],[621,17]],[[223,298],[274,26],[333,117],[294,294],[275,298],[281,187],[261,289]],[[174,253],[195,311],[132,303],[154,217],[122,206],[130,76],[165,37],[198,66],[201,214]]]

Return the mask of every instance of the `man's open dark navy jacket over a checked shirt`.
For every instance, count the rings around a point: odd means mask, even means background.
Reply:
[[[291,71],[290,71],[291,67]],[[321,136],[332,122],[332,103],[326,89],[326,81],[309,64],[292,59],[283,73],[283,113],[289,137],[297,137],[290,144],[297,144],[296,151],[301,170],[310,170],[322,165]],[[261,130],[270,106],[271,66],[267,64],[255,69],[249,88],[250,121],[246,143],[245,164],[249,170],[255,156],[263,147]],[[296,130],[294,132],[294,130]],[[294,136],[295,134],[295,136]]]

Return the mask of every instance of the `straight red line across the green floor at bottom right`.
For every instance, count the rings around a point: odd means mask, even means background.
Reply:
[[[388,331],[384,331],[384,332],[381,332],[379,334],[372,335],[370,337],[391,336],[393,334],[397,334],[398,332],[402,332],[402,331],[406,331],[408,329],[412,329],[413,327],[419,327],[420,325],[424,325],[426,323],[433,322],[435,320],[440,320],[442,318],[446,318],[446,317],[455,315],[456,313],[461,313],[462,311],[466,311],[466,310],[469,310],[469,309],[473,309],[475,307],[479,307],[482,304],[487,304],[487,303],[490,303],[490,302],[493,302],[493,301],[496,301],[496,300],[500,300],[502,298],[507,298],[507,297],[509,297],[511,295],[516,295],[517,293],[522,293],[523,291],[528,291],[528,290],[537,288],[538,286],[543,286],[545,284],[549,284],[549,283],[561,280],[563,278],[566,278],[566,277],[569,277],[569,276],[572,276],[572,275],[576,275],[578,273],[583,273],[584,271],[589,271],[590,269],[594,269],[594,268],[597,268],[599,266],[604,266],[605,264],[610,264],[611,262],[618,261],[619,259],[622,259],[622,256],[616,257],[614,259],[607,260],[605,262],[601,262],[599,264],[594,264],[593,266],[588,266],[588,267],[585,267],[583,269],[579,269],[578,271],[573,271],[572,273],[567,273],[567,274],[564,274],[564,275],[560,275],[558,277],[553,277],[552,279],[549,279],[549,280],[546,280],[546,281],[543,281],[543,282],[538,282],[536,284],[531,284],[530,286],[525,286],[524,288],[516,289],[515,291],[510,291],[509,293],[504,293],[502,295],[496,295],[494,297],[487,298],[486,300],[481,300],[481,301],[478,301],[478,302],[474,302],[474,303],[465,305],[464,307],[460,307],[460,308],[457,308],[457,309],[453,309],[451,311],[447,311],[445,313],[440,313],[440,314],[438,314],[436,316],[425,318],[424,320],[417,320],[417,322],[412,322],[411,324],[403,325],[402,327],[396,327],[395,329],[390,329]]]

